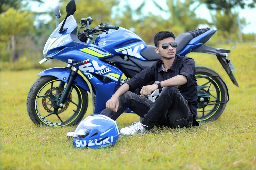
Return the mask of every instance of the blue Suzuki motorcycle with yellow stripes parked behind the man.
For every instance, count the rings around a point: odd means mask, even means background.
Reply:
[[[88,93],[92,93],[93,113],[101,113],[117,88],[161,59],[155,53],[155,46],[146,45],[140,37],[125,28],[107,23],[89,28],[93,21],[91,17],[82,18],[78,28],[73,17],[75,11],[75,2],[71,0],[66,6],[65,19],[58,24],[60,10],[58,6],[54,9],[57,28],[46,42],[44,59],[39,63],[57,59],[66,62],[67,67],[40,72],[39,79],[30,88],[27,111],[37,125],[60,127],[79,123],[88,107]],[[83,30],[80,32],[80,29]],[[238,86],[232,73],[232,63],[226,58],[230,50],[204,45],[215,32],[215,29],[203,28],[178,35],[177,54],[184,56],[193,51],[216,55],[232,82]],[[94,42],[91,42],[93,38]],[[197,121],[218,119],[229,100],[225,82],[206,67],[196,67],[196,78]],[[139,92],[140,89],[134,91],[136,94]],[[156,90],[147,97],[155,101],[158,95]],[[126,112],[133,113],[129,109]]]

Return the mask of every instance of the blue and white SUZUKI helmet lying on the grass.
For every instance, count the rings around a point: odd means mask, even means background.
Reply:
[[[75,132],[67,133],[67,137],[74,137],[73,144],[76,148],[106,148],[115,145],[119,130],[116,121],[105,115],[95,114],[82,120]]]

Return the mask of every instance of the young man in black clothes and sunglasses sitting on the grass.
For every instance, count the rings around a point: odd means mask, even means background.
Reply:
[[[120,129],[121,134],[143,133],[154,126],[188,128],[199,125],[195,119],[198,105],[194,60],[176,55],[177,43],[170,31],[158,32],[154,43],[161,59],[126,81],[107,101],[106,109],[101,113],[116,120],[130,108],[143,118]],[[140,96],[131,92],[151,81],[155,83],[143,86]],[[155,102],[145,98],[156,89],[161,92]]]

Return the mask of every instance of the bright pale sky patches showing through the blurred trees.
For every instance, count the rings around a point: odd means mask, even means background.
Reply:
[[[30,2],[29,5],[31,6],[31,9],[33,9],[33,11],[38,11],[38,12],[48,11],[50,8],[53,9],[54,7],[59,5],[58,0],[43,0],[43,1],[45,3],[41,4],[40,6],[39,6],[39,3],[37,3],[37,2]],[[131,4],[131,6],[134,7],[134,9],[135,9],[143,2],[143,0],[129,0],[129,2]],[[159,0],[157,2],[162,2],[162,4],[163,4],[162,8],[167,9],[167,7],[165,6],[166,0]],[[124,1],[121,1],[120,6],[122,6],[122,3],[124,3]],[[159,4],[161,5],[161,3],[159,3]],[[250,8],[246,7],[245,9],[237,8],[236,10],[239,11],[240,18],[244,17],[246,19],[247,23],[250,22],[250,24],[248,24],[242,30],[242,32],[243,33],[256,33],[256,17],[255,17],[256,16],[256,8],[250,9]],[[147,1],[146,6],[143,8],[143,12],[148,13],[150,11],[154,11],[157,14],[159,14],[159,13],[165,14],[164,12],[159,11],[158,8],[154,7],[154,4],[152,1]],[[209,10],[204,5],[201,5],[199,8],[197,8],[196,14],[198,17],[205,18],[208,21],[211,21],[211,16],[210,16]],[[65,15],[66,14],[62,14],[63,19],[64,19]],[[47,19],[50,19],[50,17],[48,17],[48,18],[46,17],[44,19],[47,20]]]

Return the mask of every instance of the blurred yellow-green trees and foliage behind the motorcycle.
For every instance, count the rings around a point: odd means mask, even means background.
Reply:
[[[43,3],[42,0],[33,0]],[[133,9],[129,1],[125,1],[122,7],[119,5],[120,0],[76,0],[77,10],[74,17],[77,22],[81,18],[92,16],[93,23],[91,27],[99,25],[101,22],[109,23],[110,25],[119,25],[130,29],[139,35],[147,44],[153,44],[155,33],[162,30],[170,30],[177,36],[183,32],[197,29],[202,24],[207,24],[209,27],[216,27],[218,32],[215,35],[215,40],[237,40],[255,41],[255,34],[243,34],[241,29],[247,24],[245,18],[238,18],[236,8],[244,8],[249,6],[255,8],[256,0],[177,0],[166,1],[167,10],[164,10],[159,4],[159,1],[150,0],[159,8],[169,15],[161,16],[155,11],[148,14],[142,12],[146,1]],[[30,69],[41,67],[37,66],[36,62],[42,59],[42,49],[51,32],[55,29],[55,16],[52,9],[45,12],[32,12],[28,10],[28,0],[2,0],[0,1],[0,59],[3,69],[14,69],[10,67],[8,62],[34,62],[29,66],[17,69]],[[69,0],[60,0],[60,9],[63,20],[66,11],[65,6]],[[196,16],[195,9],[201,4],[206,4],[208,9],[216,11],[212,14],[213,22],[202,19]],[[193,5],[193,9],[191,8]],[[38,16],[49,15],[51,21],[38,19]],[[34,25],[33,25],[34,23]],[[79,24],[79,23],[78,23]],[[240,29],[239,29],[240,28]],[[212,41],[212,43],[216,43]]]

